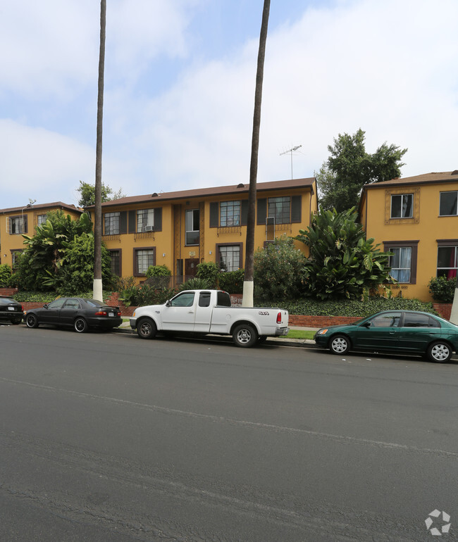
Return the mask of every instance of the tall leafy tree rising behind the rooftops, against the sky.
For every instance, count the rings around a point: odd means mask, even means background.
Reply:
[[[353,135],[339,134],[328,146],[330,156],[315,174],[322,210],[356,207],[364,184],[400,177],[407,149],[383,143],[375,153],[366,153],[365,134],[361,128]]]

